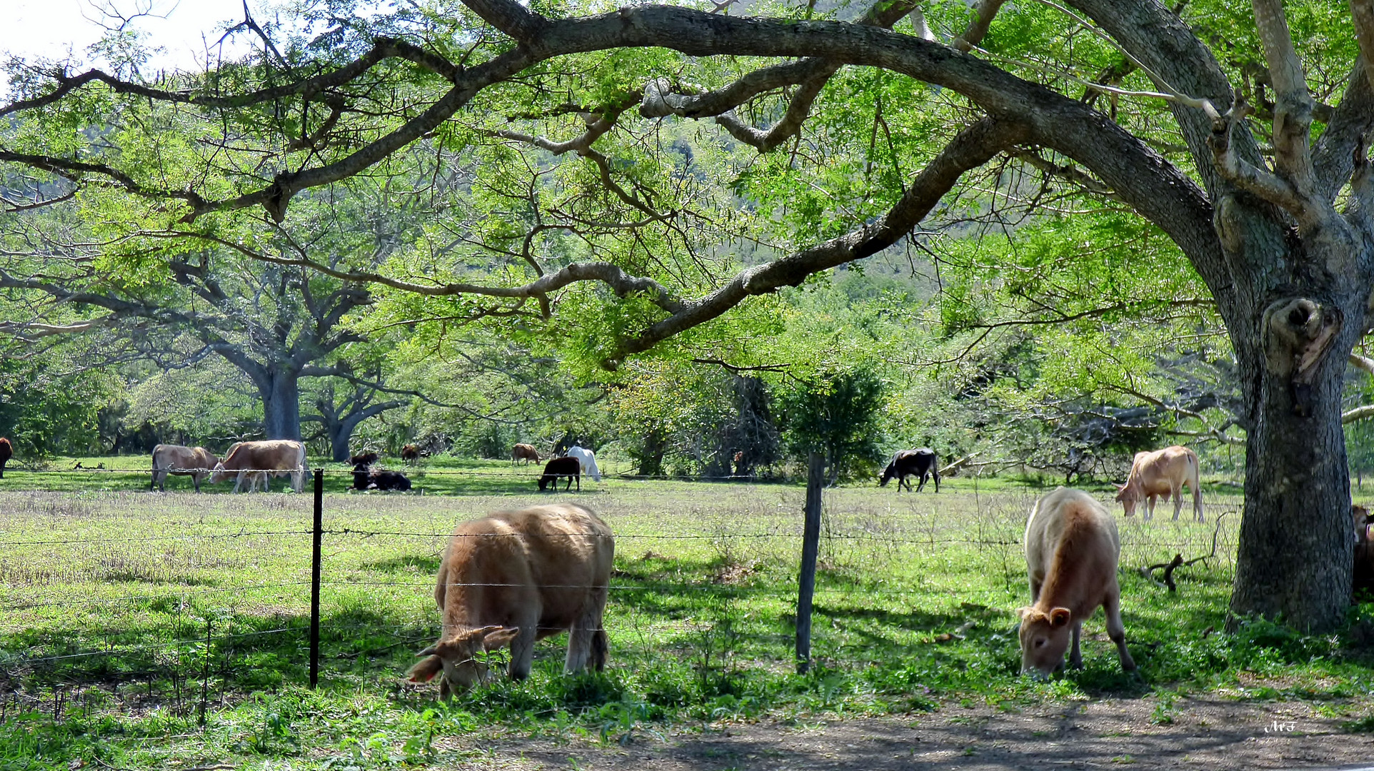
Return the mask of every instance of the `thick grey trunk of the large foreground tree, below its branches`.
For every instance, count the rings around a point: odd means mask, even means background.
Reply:
[[[1231,328],[1250,416],[1231,612],[1316,632],[1342,621],[1351,596],[1341,386],[1364,298],[1330,273],[1289,279]]]

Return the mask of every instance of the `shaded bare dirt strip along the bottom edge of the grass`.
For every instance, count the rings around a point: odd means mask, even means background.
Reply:
[[[1046,705],[1022,712],[947,706],[907,717],[731,724],[627,746],[507,739],[470,748],[459,768],[908,770],[1058,768],[1359,768],[1374,771],[1374,735],[1347,734],[1340,719],[1305,702],[1179,698],[1171,724],[1151,720],[1154,700]]]

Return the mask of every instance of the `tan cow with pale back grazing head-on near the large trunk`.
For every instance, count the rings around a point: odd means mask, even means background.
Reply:
[[[1030,605],[1017,610],[1021,672],[1048,676],[1063,664],[1070,636],[1069,665],[1083,668],[1079,636],[1083,621],[1099,605],[1107,617],[1107,636],[1121,654],[1121,668],[1134,671],[1116,580],[1121,539],[1112,514],[1085,492],[1057,488],[1030,510],[1025,543]]]

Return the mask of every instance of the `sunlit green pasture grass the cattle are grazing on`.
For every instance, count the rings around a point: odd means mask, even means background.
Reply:
[[[1355,607],[1344,635],[1263,621],[1224,632],[1235,495],[1209,492],[1202,525],[1118,519],[1139,678],[1121,672],[1098,614],[1084,629],[1084,669],[1040,683],[1018,676],[1014,629],[1014,609],[1028,602],[1020,541],[1037,491],[966,478],[938,495],[827,491],[813,664],[797,675],[800,485],[607,477],[539,495],[533,471],[508,463],[436,459],[419,470],[425,492],[414,495],[348,493],[346,476],[327,478],[315,691],[305,687],[309,495],[148,493],[115,481],[16,489],[22,473],[7,471],[0,766],[442,767],[462,760],[445,749],[452,734],[624,742],[764,715],[881,715],[945,700],[1014,711],[1157,693],[1322,700],[1369,730],[1371,656],[1352,640],[1374,631],[1374,605]],[[437,473],[449,470],[484,474]],[[452,481],[431,482],[441,477]],[[405,683],[414,651],[438,634],[433,581],[455,522],[551,500],[592,507],[617,535],[606,672],[563,676],[565,638],[552,638],[521,683],[451,704],[437,702],[433,684]],[[1213,554],[1213,557],[1178,570],[1176,594],[1136,570],[1176,552]]]

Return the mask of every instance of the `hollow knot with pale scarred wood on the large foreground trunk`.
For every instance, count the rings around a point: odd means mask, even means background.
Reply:
[[[1340,308],[1305,297],[1275,300],[1264,309],[1264,356],[1270,371],[1289,381],[1298,415],[1309,414],[1312,381],[1342,319]]]

